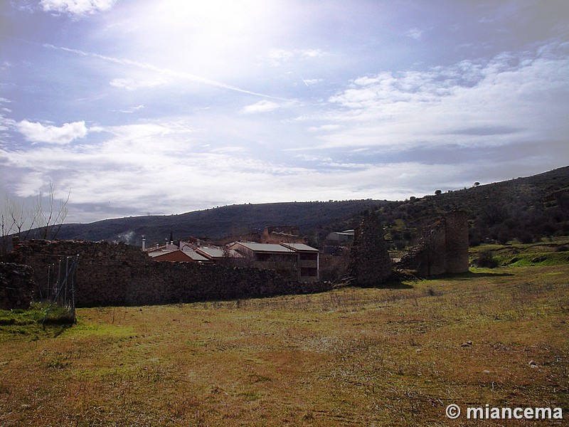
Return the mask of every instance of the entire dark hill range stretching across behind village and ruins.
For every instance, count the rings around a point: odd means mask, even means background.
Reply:
[[[246,236],[265,226],[299,227],[314,245],[330,231],[357,226],[363,211],[376,211],[388,227],[387,238],[403,248],[420,234],[426,218],[445,211],[467,211],[473,245],[491,238],[529,243],[569,235],[569,167],[524,178],[474,186],[406,201],[319,201],[241,204],[170,216],[137,216],[87,224],[64,224],[62,239],[125,241],[140,244],[189,236],[220,239]]]

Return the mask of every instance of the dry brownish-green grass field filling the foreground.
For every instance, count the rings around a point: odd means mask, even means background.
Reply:
[[[0,325],[1,426],[568,425],[569,265]]]

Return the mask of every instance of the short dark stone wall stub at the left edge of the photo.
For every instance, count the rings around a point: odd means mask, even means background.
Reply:
[[[30,307],[36,288],[31,267],[0,263],[0,310]]]

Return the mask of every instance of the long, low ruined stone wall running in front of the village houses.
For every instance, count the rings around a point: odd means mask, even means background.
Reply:
[[[48,266],[79,255],[75,276],[78,307],[151,305],[240,297],[265,297],[329,290],[326,283],[287,281],[271,270],[152,260],[124,243],[26,241],[14,248],[47,289]]]

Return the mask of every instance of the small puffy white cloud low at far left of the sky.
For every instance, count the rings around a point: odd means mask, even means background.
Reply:
[[[50,144],[69,144],[87,135],[85,122],[64,123],[61,127],[42,125],[38,122],[22,120],[16,123],[16,129],[30,142],[48,142]]]

